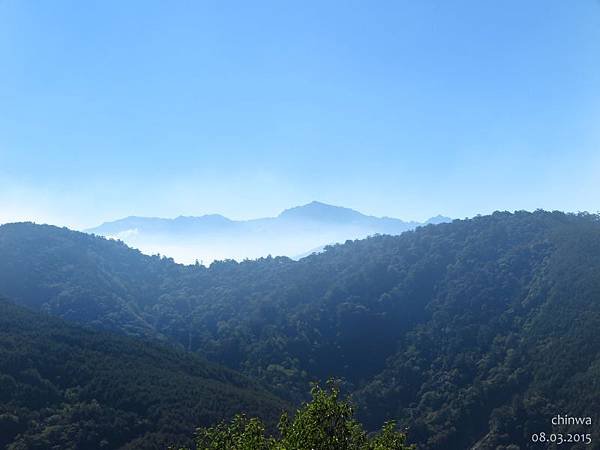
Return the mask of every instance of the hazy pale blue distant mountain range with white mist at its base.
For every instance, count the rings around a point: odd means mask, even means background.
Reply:
[[[436,216],[424,223],[405,222],[315,201],[286,209],[277,217],[231,220],[219,214],[174,219],[132,216],[86,232],[120,239],[144,253],[160,253],[181,263],[198,260],[208,264],[267,255],[301,258],[329,244],[374,234],[398,235],[421,225],[449,221],[448,217]]]

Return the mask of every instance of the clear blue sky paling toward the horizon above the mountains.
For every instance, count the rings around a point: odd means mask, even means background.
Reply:
[[[0,222],[600,210],[600,3],[0,0]]]

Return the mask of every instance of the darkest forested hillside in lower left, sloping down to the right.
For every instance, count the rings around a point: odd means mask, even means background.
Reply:
[[[0,448],[164,449],[240,409],[283,402],[189,353],[0,300]]]

